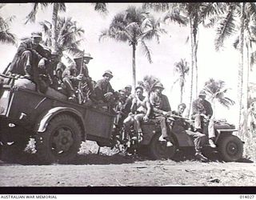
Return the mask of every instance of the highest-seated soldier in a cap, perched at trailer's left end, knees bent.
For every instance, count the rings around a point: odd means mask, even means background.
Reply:
[[[31,33],[31,38],[18,46],[8,72],[25,75],[26,78],[37,83],[38,67],[44,66],[46,61],[45,50],[39,45],[41,41],[41,32]]]

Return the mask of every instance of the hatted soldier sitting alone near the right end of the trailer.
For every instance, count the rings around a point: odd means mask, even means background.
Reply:
[[[114,90],[110,84],[113,74],[110,70],[106,70],[102,77],[103,79],[98,80],[94,86],[95,98],[99,103],[111,103],[114,100]]]

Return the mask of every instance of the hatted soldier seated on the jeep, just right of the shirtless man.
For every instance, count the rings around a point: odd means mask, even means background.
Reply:
[[[153,116],[160,122],[162,130],[159,141],[166,141],[166,146],[173,146],[173,143],[170,141],[171,123],[168,123],[168,127],[166,125],[166,117],[170,115],[171,111],[170,103],[166,95],[162,94],[162,90],[164,90],[162,83],[158,82],[154,85],[153,92],[150,93],[150,104],[152,106]],[[169,131],[167,128],[169,128]]]

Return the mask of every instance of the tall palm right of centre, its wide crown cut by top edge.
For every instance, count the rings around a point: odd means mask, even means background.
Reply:
[[[190,27],[190,45],[191,45],[191,70],[190,70],[190,107],[191,110],[193,91],[194,91],[194,70],[195,70],[195,96],[198,95],[198,27],[200,24],[211,26],[214,18],[210,19],[210,23],[206,24],[205,20],[210,14],[218,14],[218,2],[186,2],[186,3],[144,3],[144,8],[151,8],[156,11],[166,12],[163,20],[166,22],[178,23],[182,26]]]

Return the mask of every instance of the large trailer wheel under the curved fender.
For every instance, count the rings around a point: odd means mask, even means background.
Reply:
[[[38,159],[44,164],[69,163],[82,143],[82,129],[68,114],[59,114],[48,124],[46,131],[36,135]]]

